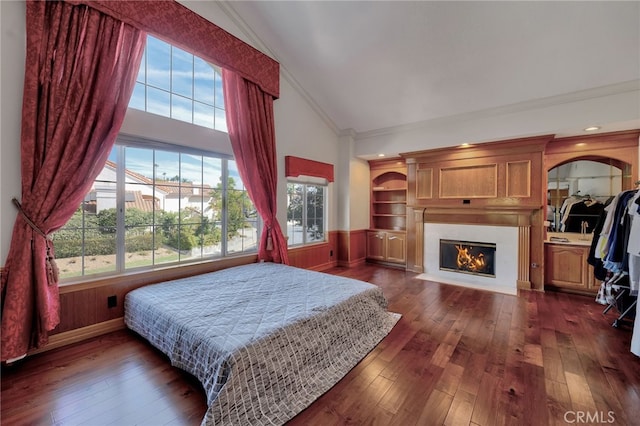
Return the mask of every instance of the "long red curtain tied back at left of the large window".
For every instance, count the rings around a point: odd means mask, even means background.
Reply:
[[[22,205],[2,276],[2,360],[47,342],[59,322],[46,238],[81,204],[124,119],[145,34],[87,6],[27,2]]]

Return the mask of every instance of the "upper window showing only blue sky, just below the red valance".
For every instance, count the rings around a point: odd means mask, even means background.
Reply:
[[[147,36],[129,107],[227,131],[220,69]]]

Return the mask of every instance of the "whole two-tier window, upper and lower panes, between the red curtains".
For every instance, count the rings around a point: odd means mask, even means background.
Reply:
[[[119,136],[84,202],[53,235],[61,278],[256,251],[260,221],[235,161],[189,139],[225,136],[216,132],[227,130],[220,70],[147,36],[129,107],[169,119],[145,119],[146,127],[133,126],[142,134]],[[176,135],[172,120],[214,130],[182,126]],[[147,128],[166,130],[167,139],[149,140],[157,136]]]

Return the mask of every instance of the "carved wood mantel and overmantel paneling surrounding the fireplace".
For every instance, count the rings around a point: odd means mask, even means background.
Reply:
[[[411,210],[407,268],[422,268],[422,261],[416,259],[423,244],[423,236],[417,233],[420,222],[515,226],[522,234],[520,244],[528,245],[519,257],[518,286],[542,290],[544,151],[552,139],[553,135],[543,135],[401,154],[407,163]],[[421,170],[433,170],[433,179],[425,178]],[[433,196],[427,197],[430,191]]]

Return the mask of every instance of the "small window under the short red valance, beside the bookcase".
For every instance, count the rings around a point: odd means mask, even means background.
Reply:
[[[327,186],[287,183],[289,246],[325,241]]]

